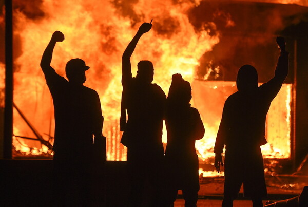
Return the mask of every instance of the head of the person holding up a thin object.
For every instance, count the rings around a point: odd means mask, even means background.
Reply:
[[[140,61],[137,65],[136,78],[143,83],[152,83],[154,76],[154,67],[150,61]]]

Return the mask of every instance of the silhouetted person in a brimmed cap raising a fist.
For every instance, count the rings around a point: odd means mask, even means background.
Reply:
[[[50,66],[56,42],[64,35],[55,31],[47,45],[41,68],[49,87],[55,118],[54,205],[89,205],[93,171],[93,135],[102,137],[102,110],[98,93],[83,85],[89,69],[81,59],[65,67],[68,81]]]

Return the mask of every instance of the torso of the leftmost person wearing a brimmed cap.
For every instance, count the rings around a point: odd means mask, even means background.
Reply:
[[[54,77],[47,84],[53,98],[55,117],[55,153],[73,156],[90,155],[95,126],[100,121],[98,93],[83,85],[69,83],[63,77]],[[81,153],[83,152],[83,153]]]

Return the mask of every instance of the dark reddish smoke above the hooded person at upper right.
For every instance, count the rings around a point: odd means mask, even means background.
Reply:
[[[234,81],[237,70],[242,65],[251,64],[260,74],[259,81],[268,81],[273,77],[279,55],[276,36],[285,36],[287,49],[292,51],[293,41],[305,33],[298,32],[298,29],[306,28],[299,24],[306,25],[307,13],[306,7],[297,5],[201,2],[190,10],[189,20],[197,30],[220,33],[220,42],[199,60],[198,78],[213,79],[208,74],[216,74],[218,80]]]

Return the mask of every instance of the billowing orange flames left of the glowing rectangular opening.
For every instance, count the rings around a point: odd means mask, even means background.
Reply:
[[[158,5],[160,9],[157,9]],[[14,101],[42,135],[49,134],[49,131],[53,135],[54,127],[52,121],[50,130],[53,109],[40,60],[55,30],[65,35],[65,41],[58,43],[54,49],[51,65],[56,71],[64,76],[66,62],[77,57],[90,66],[85,85],[97,90],[101,97],[108,160],[126,159],[126,149],[119,143],[121,133],[118,127],[122,92],[121,57],[139,25],[153,18],[152,31],[141,38],[132,55],[132,72],[136,74],[140,60],[151,60],[155,66],[153,82],[166,93],[172,74],[181,73],[186,80],[192,81],[201,55],[219,42],[218,36],[208,35],[208,30],[195,31],[189,23],[185,12],[194,6],[192,3],[174,5],[171,1],[140,1],[131,6],[138,14],[143,14],[147,8],[143,19],[133,26],[132,20],[118,15],[109,2],[74,1],[71,4],[68,1],[44,1],[41,9],[45,17],[40,20],[29,20],[20,12],[14,13],[14,31],[18,32],[23,43],[23,53],[14,63],[18,66]],[[175,24],[171,30],[176,30],[176,35],[175,31],[170,31],[167,36],[157,31],[159,22],[167,21],[165,16],[181,22],[170,23]],[[17,113],[14,113],[14,135],[33,137]],[[34,145],[32,148],[41,148],[38,142],[14,137],[15,146],[18,145],[16,139],[25,145]]]

